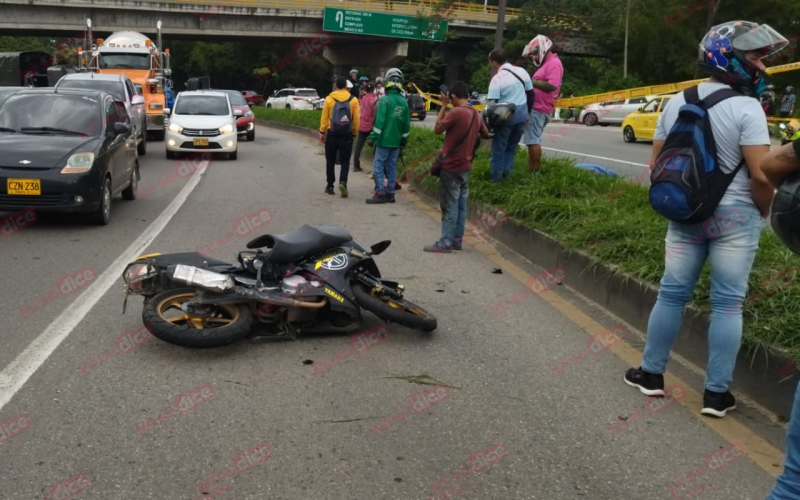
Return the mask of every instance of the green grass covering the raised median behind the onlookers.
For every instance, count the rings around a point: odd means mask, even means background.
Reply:
[[[313,111],[259,108],[256,115],[308,128],[319,126],[319,113]],[[424,184],[436,185],[438,179],[427,176],[425,169],[430,166],[431,154],[441,146],[442,136],[412,127],[399,171],[413,169]],[[568,159],[545,156],[542,163],[542,174],[531,176],[526,153],[520,149],[510,178],[495,184],[491,182],[489,151],[480,149],[473,161],[470,199],[502,206],[518,222],[556,237],[567,248],[657,283],[664,272],[667,221],[650,208],[647,189],[624,179],[577,169]],[[779,243],[771,230],[765,229],[750,274],[751,298],[744,309],[744,345],[751,353],[772,346],[800,360],[800,324],[796,321],[800,286],[766,296],[770,277],[796,265],[797,257]],[[710,310],[710,286],[706,265],[692,299],[702,311]]]

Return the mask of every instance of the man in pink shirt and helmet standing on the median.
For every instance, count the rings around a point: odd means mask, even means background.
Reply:
[[[536,100],[522,136],[523,144],[528,146],[528,172],[538,172],[542,168],[542,134],[555,109],[564,66],[554,52],[553,42],[544,35],[531,40],[522,55],[530,57],[539,68],[531,77]]]

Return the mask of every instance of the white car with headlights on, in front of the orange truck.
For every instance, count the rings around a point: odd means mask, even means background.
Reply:
[[[175,107],[165,109],[169,116],[164,143],[167,158],[175,159],[179,152],[227,153],[236,159],[238,149],[236,119],[243,116],[234,110],[225,92],[197,90],[180,92]]]

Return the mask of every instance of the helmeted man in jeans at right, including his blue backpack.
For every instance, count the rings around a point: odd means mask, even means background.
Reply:
[[[771,144],[757,99],[767,86],[762,59],[788,44],[767,25],[714,26],[698,50],[698,65],[710,78],[673,97],[656,125],[650,204],[670,220],[667,258],[642,364],[629,369],[624,380],[647,396],[666,395],[670,350],[709,260],[704,415],[724,417],[736,408],[729,389],[742,340],[742,303],[774,195],[760,166]]]

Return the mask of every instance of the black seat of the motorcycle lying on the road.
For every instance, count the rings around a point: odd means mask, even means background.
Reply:
[[[275,264],[291,264],[351,241],[346,229],[336,226],[301,226],[283,234],[265,234],[247,244],[247,248],[267,247],[267,259]]]

